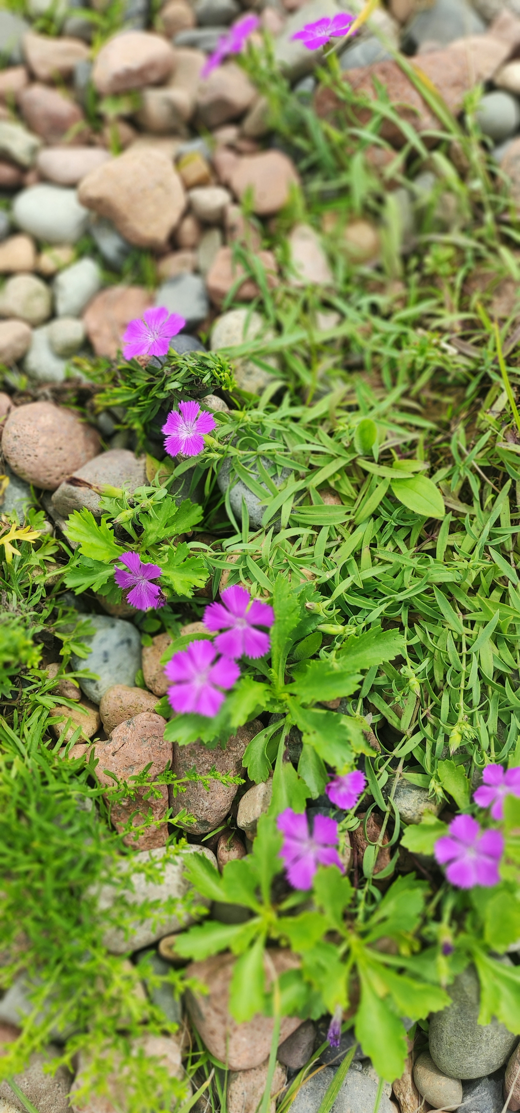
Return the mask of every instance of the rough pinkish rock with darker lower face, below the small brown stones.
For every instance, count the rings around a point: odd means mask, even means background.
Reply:
[[[114,779],[105,772],[106,769],[126,781],[141,772],[150,762],[150,778],[164,772],[168,761],[171,761],[171,742],[165,741],[163,737],[165,726],[166,719],[160,715],[141,711],[115,727],[108,741],[96,743],[95,752],[99,758],[96,774],[99,782],[106,787],[114,785]],[[148,799],[149,789],[138,788],[134,799],[115,804],[110,809],[110,819],[118,831],[125,828],[130,818],[133,827],[143,824],[149,810],[154,819],[159,821],[160,826],[148,827],[137,839],[133,835],[125,835],[126,846],[131,846],[134,850],[150,850],[166,844],[168,827],[164,820],[168,808],[168,789],[166,785],[159,785],[157,790],[159,797]]]

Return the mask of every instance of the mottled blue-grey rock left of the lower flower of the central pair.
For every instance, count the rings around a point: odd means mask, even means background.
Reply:
[[[131,622],[112,619],[108,614],[89,614],[96,628],[91,638],[85,638],[90,653],[84,659],[72,653],[72,669],[89,669],[97,672],[99,680],[79,680],[81,691],[99,703],[101,696],[114,684],[134,687],[136,672],[140,669],[140,637]],[[145,946],[145,944],[143,944]]]

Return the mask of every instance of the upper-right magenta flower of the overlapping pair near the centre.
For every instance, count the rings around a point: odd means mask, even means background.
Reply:
[[[271,629],[274,611],[267,603],[252,599],[245,588],[235,584],[226,588],[220,595],[222,603],[209,603],[204,612],[204,626],[214,633],[225,630],[215,638],[215,647],[224,657],[263,657],[271,641],[268,633],[257,630],[258,626]]]

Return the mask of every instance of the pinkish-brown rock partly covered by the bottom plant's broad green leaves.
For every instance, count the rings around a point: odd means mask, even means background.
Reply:
[[[278,975],[300,965],[300,959],[291,951],[272,948],[268,956]],[[234,965],[233,955],[214,955],[205,962],[190,963],[186,969],[187,977],[203,982],[209,992],[203,996],[188,991],[186,1005],[212,1055],[226,1063],[232,1071],[248,1071],[267,1058],[274,1022],[272,1017],[257,1013],[252,1021],[238,1024],[229,1014],[227,1003]],[[265,969],[268,985],[271,977],[267,962]],[[298,1016],[283,1016],[279,1043],[301,1024]]]

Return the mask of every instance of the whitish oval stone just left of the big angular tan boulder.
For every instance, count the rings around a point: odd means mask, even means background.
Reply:
[[[87,232],[88,211],[76,189],[29,186],[14,198],[12,215],[19,228],[46,244],[76,244]]]

